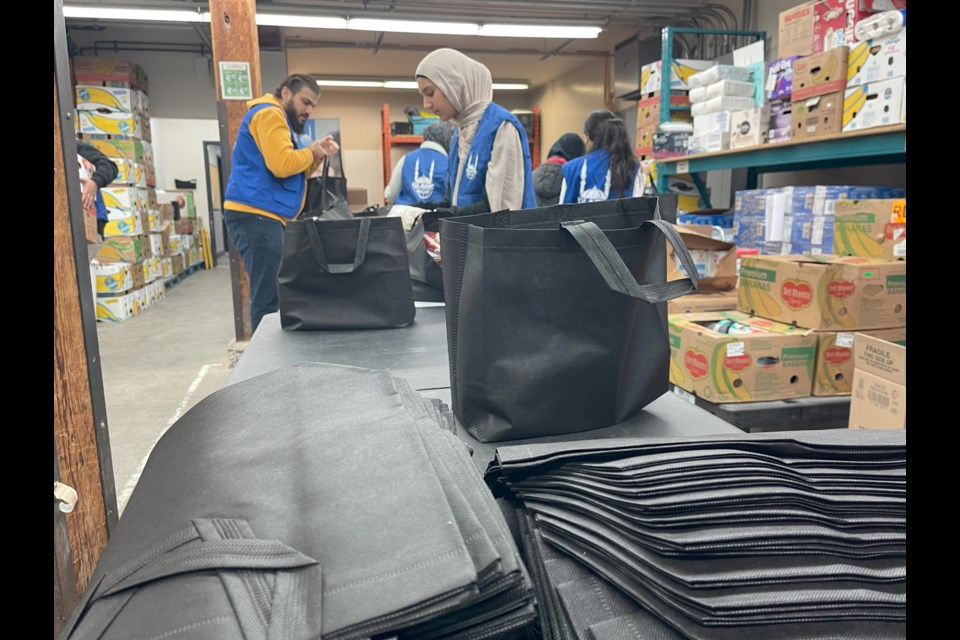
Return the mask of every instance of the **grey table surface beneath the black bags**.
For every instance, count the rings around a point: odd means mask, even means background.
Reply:
[[[369,331],[284,331],[280,315],[264,316],[227,384],[280,369],[295,362],[325,362],[367,369],[387,369],[404,378],[427,398],[450,404],[447,331],[443,307],[420,307],[413,325],[403,329]],[[478,442],[459,424],[457,432],[474,451],[480,470],[493,460],[498,446],[527,442],[561,442],[628,436],[696,436],[742,433],[732,424],[668,392],[630,420],[582,433]]]

